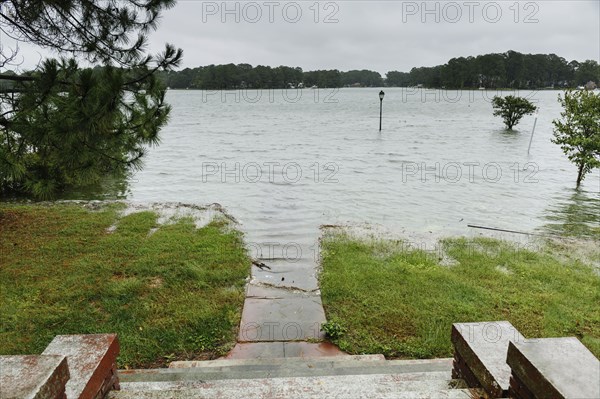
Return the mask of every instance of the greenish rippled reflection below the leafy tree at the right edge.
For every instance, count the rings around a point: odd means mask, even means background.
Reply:
[[[600,197],[571,190],[545,213],[543,230],[565,236],[600,240]],[[567,194],[565,193],[565,194]]]

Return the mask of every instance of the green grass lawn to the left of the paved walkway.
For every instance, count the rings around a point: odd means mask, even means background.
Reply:
[[[250,272],[241,234],[123,207],[0,204],[0,354],[114,332],[119,367],[136,368],[233,346]]]

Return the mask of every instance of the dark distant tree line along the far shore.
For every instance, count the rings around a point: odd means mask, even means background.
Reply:
[[[159,77],[172,89],[281,89],[289,87],[411,87],[468,89],[566,88],[600,83],[597,61],[567,61],[556,54],[521,54],[508,51],[477,57],[452,58],[444,65],[390,71],[385,79],[369,70],[337,69],[305,72],[299,67],[249,64],[208,65],[162,72]]]

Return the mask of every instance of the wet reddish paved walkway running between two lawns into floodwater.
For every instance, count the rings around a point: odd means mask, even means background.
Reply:
[[[259,259],[246,288],[238,344],[228,358],[336,356],[344,353],[322,340],[326,321],[312,259]],[[304,341],[304,342],[302,342]]]

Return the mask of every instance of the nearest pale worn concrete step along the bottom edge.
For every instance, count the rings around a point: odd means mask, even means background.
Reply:
[[[214,381],[124,382],[110,399],[184,398],[473,398],[461,381],[428,373],[370,374]],[[433,373],[435,374],[435,373]]]

